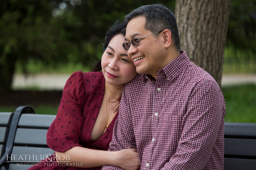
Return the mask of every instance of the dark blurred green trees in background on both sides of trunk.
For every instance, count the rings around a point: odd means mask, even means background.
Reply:
[[[256,0],[233,0],[227,44],[256,54]],[[174,12],[175,0],[0,0],[0,92],[11,90],[15,63],[48,65],[100,59],[116,19],[146,4]]]

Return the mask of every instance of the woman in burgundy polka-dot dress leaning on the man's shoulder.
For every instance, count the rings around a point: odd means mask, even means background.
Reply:
[[[127,51],[122,48],[125,27],[116,24],[106,34],[101,65],[98,62],[93,70],[96,72],[78,71],[66,82],[56,119],[47,132],[47,144],[56,151],[55,155],[46,159],[52,160],[49,164],[43,160],[41,166],[36,164],[30,170],[98,170],[104,165],[139,168],[135,149],[107,151],[123,85],[137,75]],[[64,167],[63,163],[69,166]]]

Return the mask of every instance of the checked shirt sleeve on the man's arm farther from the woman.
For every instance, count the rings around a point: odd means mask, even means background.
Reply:
[[[216,143],[218,131],[224,125],[223,102],[223,95],[216,83],[205,81],[198,85],[192,92],[183,117],[185,123],[176,153],[162,170],[204,169]]]

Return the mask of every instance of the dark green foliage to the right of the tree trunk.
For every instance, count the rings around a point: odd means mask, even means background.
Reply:
[[[246,58],[256,58],[256,0],[232,0],[227,46]]]

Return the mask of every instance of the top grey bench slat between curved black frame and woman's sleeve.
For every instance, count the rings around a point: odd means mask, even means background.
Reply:
[[[20,128],[49,129],[56,115],[22,114],[18,123]]]

